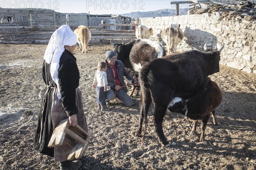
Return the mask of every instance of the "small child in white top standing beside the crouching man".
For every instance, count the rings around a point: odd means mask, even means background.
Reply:
[[[97,104],[98,109],[101,111],[108,110],[106,106],[106,96],[108,89],[108,80],[107,80],[107,64],[105,62],[98,63],[98,69],[94,76],[92,88],[96,88],[97,94]],[[97,86],[96,86],[97,85]]]

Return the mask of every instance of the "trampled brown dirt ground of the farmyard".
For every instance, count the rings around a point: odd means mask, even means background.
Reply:
[[[0,44],[0,169],[57,170],[59,163],[33,150],[34,131],[45,87],[41,66],[47,45]],[[90,145],[80,170],[255,170],[256,74],[221,66],[211,79],[223,93],[216,110],[218,126],[207,124],[190,135],[190,124],[181,114],[167,113],[163,122],[170,148],[157,141],[153,116],[148,116],[145,139],[134,136],[140,98],[125,107],[114,100],[109,111],[96,110],[91,88],[97,62],[104,61],[111,45],[90,44],[89,53],[75,56],[81,79]]]

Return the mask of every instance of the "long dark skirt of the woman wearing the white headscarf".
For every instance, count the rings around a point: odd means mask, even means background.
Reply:
[[[67,113],[62,106],[62,100],[58,99],[56,94],[56,88],[44,89],[44,98],[41,103],[41,112],[38,115],[33,147],[39,153],[54,157],[55,161],[66,161],[72,147],[67,144],[62,144],[58,147],[48,147],[52,132],[56,125],[58,125],[58,122],[68,119]],[[76,105],[79,111],[76,115],[78,125],[88,132],[79,88],[76,89]]]

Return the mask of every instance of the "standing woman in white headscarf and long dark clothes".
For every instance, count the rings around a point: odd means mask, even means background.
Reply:
[[[78,124],[88,132],[79,86],[79,69],[73,52],[76,35],[69,26],[59,27],[51,36],[44,54],[43,79],[46,84],[35,132],[34,149],[60,161],[61,170],[77,170],[80,160],[68,161],[73,147],[65,144],[48,147],[58,122],[68,119],[70,126]],[[88,147],[88,146],[87,146]]]

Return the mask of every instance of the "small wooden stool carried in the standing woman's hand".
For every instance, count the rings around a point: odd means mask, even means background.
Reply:
[[[65,119],[55,127],[48,147],[61,146],[63,142],[73,147],[67,159],[79,159],[89,144],[89,134],[79,125],[70,126],[69,120]]]

